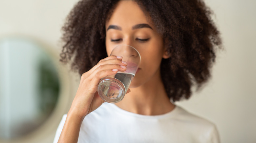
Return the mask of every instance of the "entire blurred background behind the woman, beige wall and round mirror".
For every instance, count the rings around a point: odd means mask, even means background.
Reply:
[[[51,143],[79,75],[58,61],[77,0],[0,1],[0,143]],[[222,33],[212,79],[176,104],[214,122],[223,143],[256,142],[256,1],[206,0]]]

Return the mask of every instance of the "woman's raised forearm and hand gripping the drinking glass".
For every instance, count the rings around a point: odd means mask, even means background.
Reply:
[[[125,71],[127,63],[122,57],[109,56],[99,61],[90,71],[81,76],[71,108],[61,131],[58,143],[77,143],[80,127],[86,115],[97,109],[104,101],[97,92],[101,78]]]

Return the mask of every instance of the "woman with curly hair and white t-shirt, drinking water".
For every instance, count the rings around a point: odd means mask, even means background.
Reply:
[[[210,77],[219,32],[199,0],[81,0],[63,26],[61,61],[81,74],[54,142],[219,142],[215,125],[174,104]],[[101,78],[125,71],[120,44],[141,64],[124,99],[103,103]]]

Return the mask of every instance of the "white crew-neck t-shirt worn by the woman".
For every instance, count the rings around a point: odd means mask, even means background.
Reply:
[[[57,129],[57,143],[67,115]],[[81,125],[78,143],[219,143],[216,126],[179,106],[163,115],[131,113],[103,103]]]

